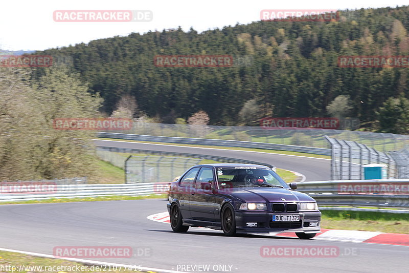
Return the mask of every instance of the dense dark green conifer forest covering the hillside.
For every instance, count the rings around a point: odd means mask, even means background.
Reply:
[[[258,21],[198,33],[181,28],[37,51],[65,62],[111,115],[134,98],[154,122],[198,111],[214,125],[264,117],[354,117],[361,130],[409,130],[408,67],[342,67],[339,56],[409,55],[409,7],[339,11],[329,22]],[[233,65],[170,67],[156,56],[231,56]],[[37,69],[33,77],[44,74]]]

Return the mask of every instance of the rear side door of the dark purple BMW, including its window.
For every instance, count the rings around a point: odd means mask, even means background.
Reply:
[[[179,181],[178,196],[180,204],[180,213],[184,219],[190,219],[190,195],[194,186],[195,178],[199,172],[200,167],[194,167],[189,170]]]

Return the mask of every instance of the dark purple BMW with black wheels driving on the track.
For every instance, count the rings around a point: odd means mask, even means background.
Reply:
[[[294,191],[269,167],[252,164],[203,164],[170,184],[170,224],[236,233],[295,232],[301,239],[320,233],[321,212],[314,199]]]

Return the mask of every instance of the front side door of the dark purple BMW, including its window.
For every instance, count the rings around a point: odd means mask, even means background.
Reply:
[[[213,193],[213,188],[215,186],[214,171],[210,167],[201,167],[192,188],[190,195],[190,215],[191,219],[196,221],[207,221],[214,222],[214,201],[215,196]],[[202,189],[202,182],[210,182],[212,188],[209,190]]]

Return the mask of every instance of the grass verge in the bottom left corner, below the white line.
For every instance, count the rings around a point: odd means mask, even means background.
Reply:
[[[84,272],[112,272],[131,273],[139,271],[129,267],[109,267],[101,265],[85,265],[62,259],[42,258],[26,254],[0,251],[0,271],[1,272],[59,272],[59,273],[84,273]],[[150,272],[154,271],[139,271]]]

